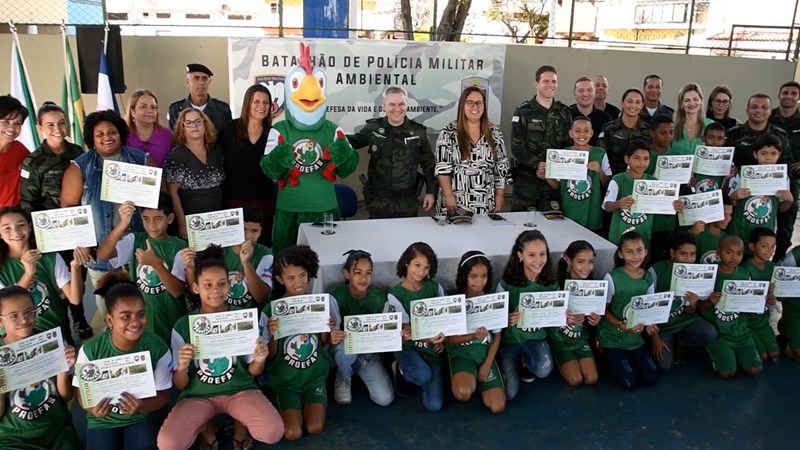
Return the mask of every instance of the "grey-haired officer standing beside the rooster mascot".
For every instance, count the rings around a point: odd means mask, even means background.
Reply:
[[[419,178],[425,181],[422,208],[428,211],[434,203],[436,161],[428,132],[406,117],[407,109],[405,89],[390,87],[383,93],[386,116],[367,120],[360,131],[347,137],[353,148],[367,147],[370,154],[364,200],[371,219],[415,217]]]

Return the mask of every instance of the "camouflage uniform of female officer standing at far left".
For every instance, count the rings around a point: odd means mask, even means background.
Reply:
[[[65,142],[66,148],[56,154],[47,142],[22,161],[20,170],[20,206],[25,211],[43,211],[61,207],[61,180],[69,162],[83,153],[75,144]]]

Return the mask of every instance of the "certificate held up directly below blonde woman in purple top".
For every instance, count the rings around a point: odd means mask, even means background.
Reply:
[[[130,201],[136,206],[158,208],[161,172],[158,167],[105,160],[100,200],[112,203]]]

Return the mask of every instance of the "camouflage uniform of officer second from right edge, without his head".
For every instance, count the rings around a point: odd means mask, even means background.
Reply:
[[[770,119],[770,121],[773,120],[773,118]],[[742,166],[758,164],[758,162],[756,162],[756,158],[753,156],[752,145],[759,136],[767,133],[774,134],[781,141],[781,157],[778,159],[778,164],[786,164],[787,166],[791,167],[794,148],[792,148],[790,145],[789,137],[783,129],[776,127],[772,123],[769,123],[767,124],[767,128],[765,128],[763,131],[756,131],[750,128],[747,122],[744,122],[736,125],[725,133],[726,145],[735,147],[733,151],[733,163],[737,168],[741,169]],[[795,193],[798,191],[798,185],[794,177],[790,176],[789,179],[789,190],[792,192],[792,195],[795,196],[795,202],[788,210],[778,213],[778,226],[776,230],[777,239],[775,246],[776,258],[782,258],[783,255],[786,254],[786,250],[791,247],[794,221],[797,218],[797,196]]]

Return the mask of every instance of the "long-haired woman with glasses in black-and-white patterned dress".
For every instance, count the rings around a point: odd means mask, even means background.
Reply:
[[[503,208],[509,162],[503,134],[489,122],[484,90],[464,89],[458,111],[459,117],[436,140],[437,214],[456,209],[498,212]]]

